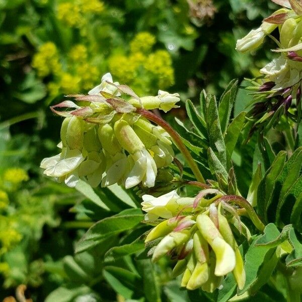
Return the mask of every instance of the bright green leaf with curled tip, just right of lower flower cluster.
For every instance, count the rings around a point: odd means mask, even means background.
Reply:
[[[274,241],[280,232],[273,223],[269,223],[265,226],[264,235],[257,236],[252,244],[250,245],[245,255],[245,272],[246,272],[246,283],[243,289],[239,290],[239,294],[244,293],[248,290],[251,285],[256,281],[259,269],[264,262],[266,254],[271,250],[271,254],[274,253],[274,249],[270,247],[258,245],[259,243],[267,243]]]

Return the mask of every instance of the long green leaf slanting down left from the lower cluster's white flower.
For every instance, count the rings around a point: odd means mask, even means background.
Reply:
[[[117,215],[98,221],[91,226],[82,239],[75,245],[75,253],[83,252],[101,244],[108,237],[133,229],[142,219],[143,214],[140,209],[128,209]]]

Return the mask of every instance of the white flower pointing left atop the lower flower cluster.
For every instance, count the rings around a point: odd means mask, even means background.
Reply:
[[[159,217],[169,219],[176,216],[185,207],[192,206],[194,198],[182,198],[174,190],[160,197],[145,194],[142,200],[142,210],[147,212],[145,220],[153,221]]]

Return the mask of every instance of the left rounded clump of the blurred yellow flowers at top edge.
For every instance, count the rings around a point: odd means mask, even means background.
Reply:
[[[81,15],[81,7],[74,3],[61,3],[58,5],[58,19],[71,27],[83,25],[84,19]]]

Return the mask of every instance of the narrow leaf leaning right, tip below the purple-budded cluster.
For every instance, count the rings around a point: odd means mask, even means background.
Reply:
[[[235,119],[231,122],[231,124],[226,129],[226,133],[224,136],[224,143],[226,149],[226,168],[229,169],[231,167],[231,158],[237,143],[239,134],[244,126],[246,112],[241,112],[239,115],[235,117]]]

